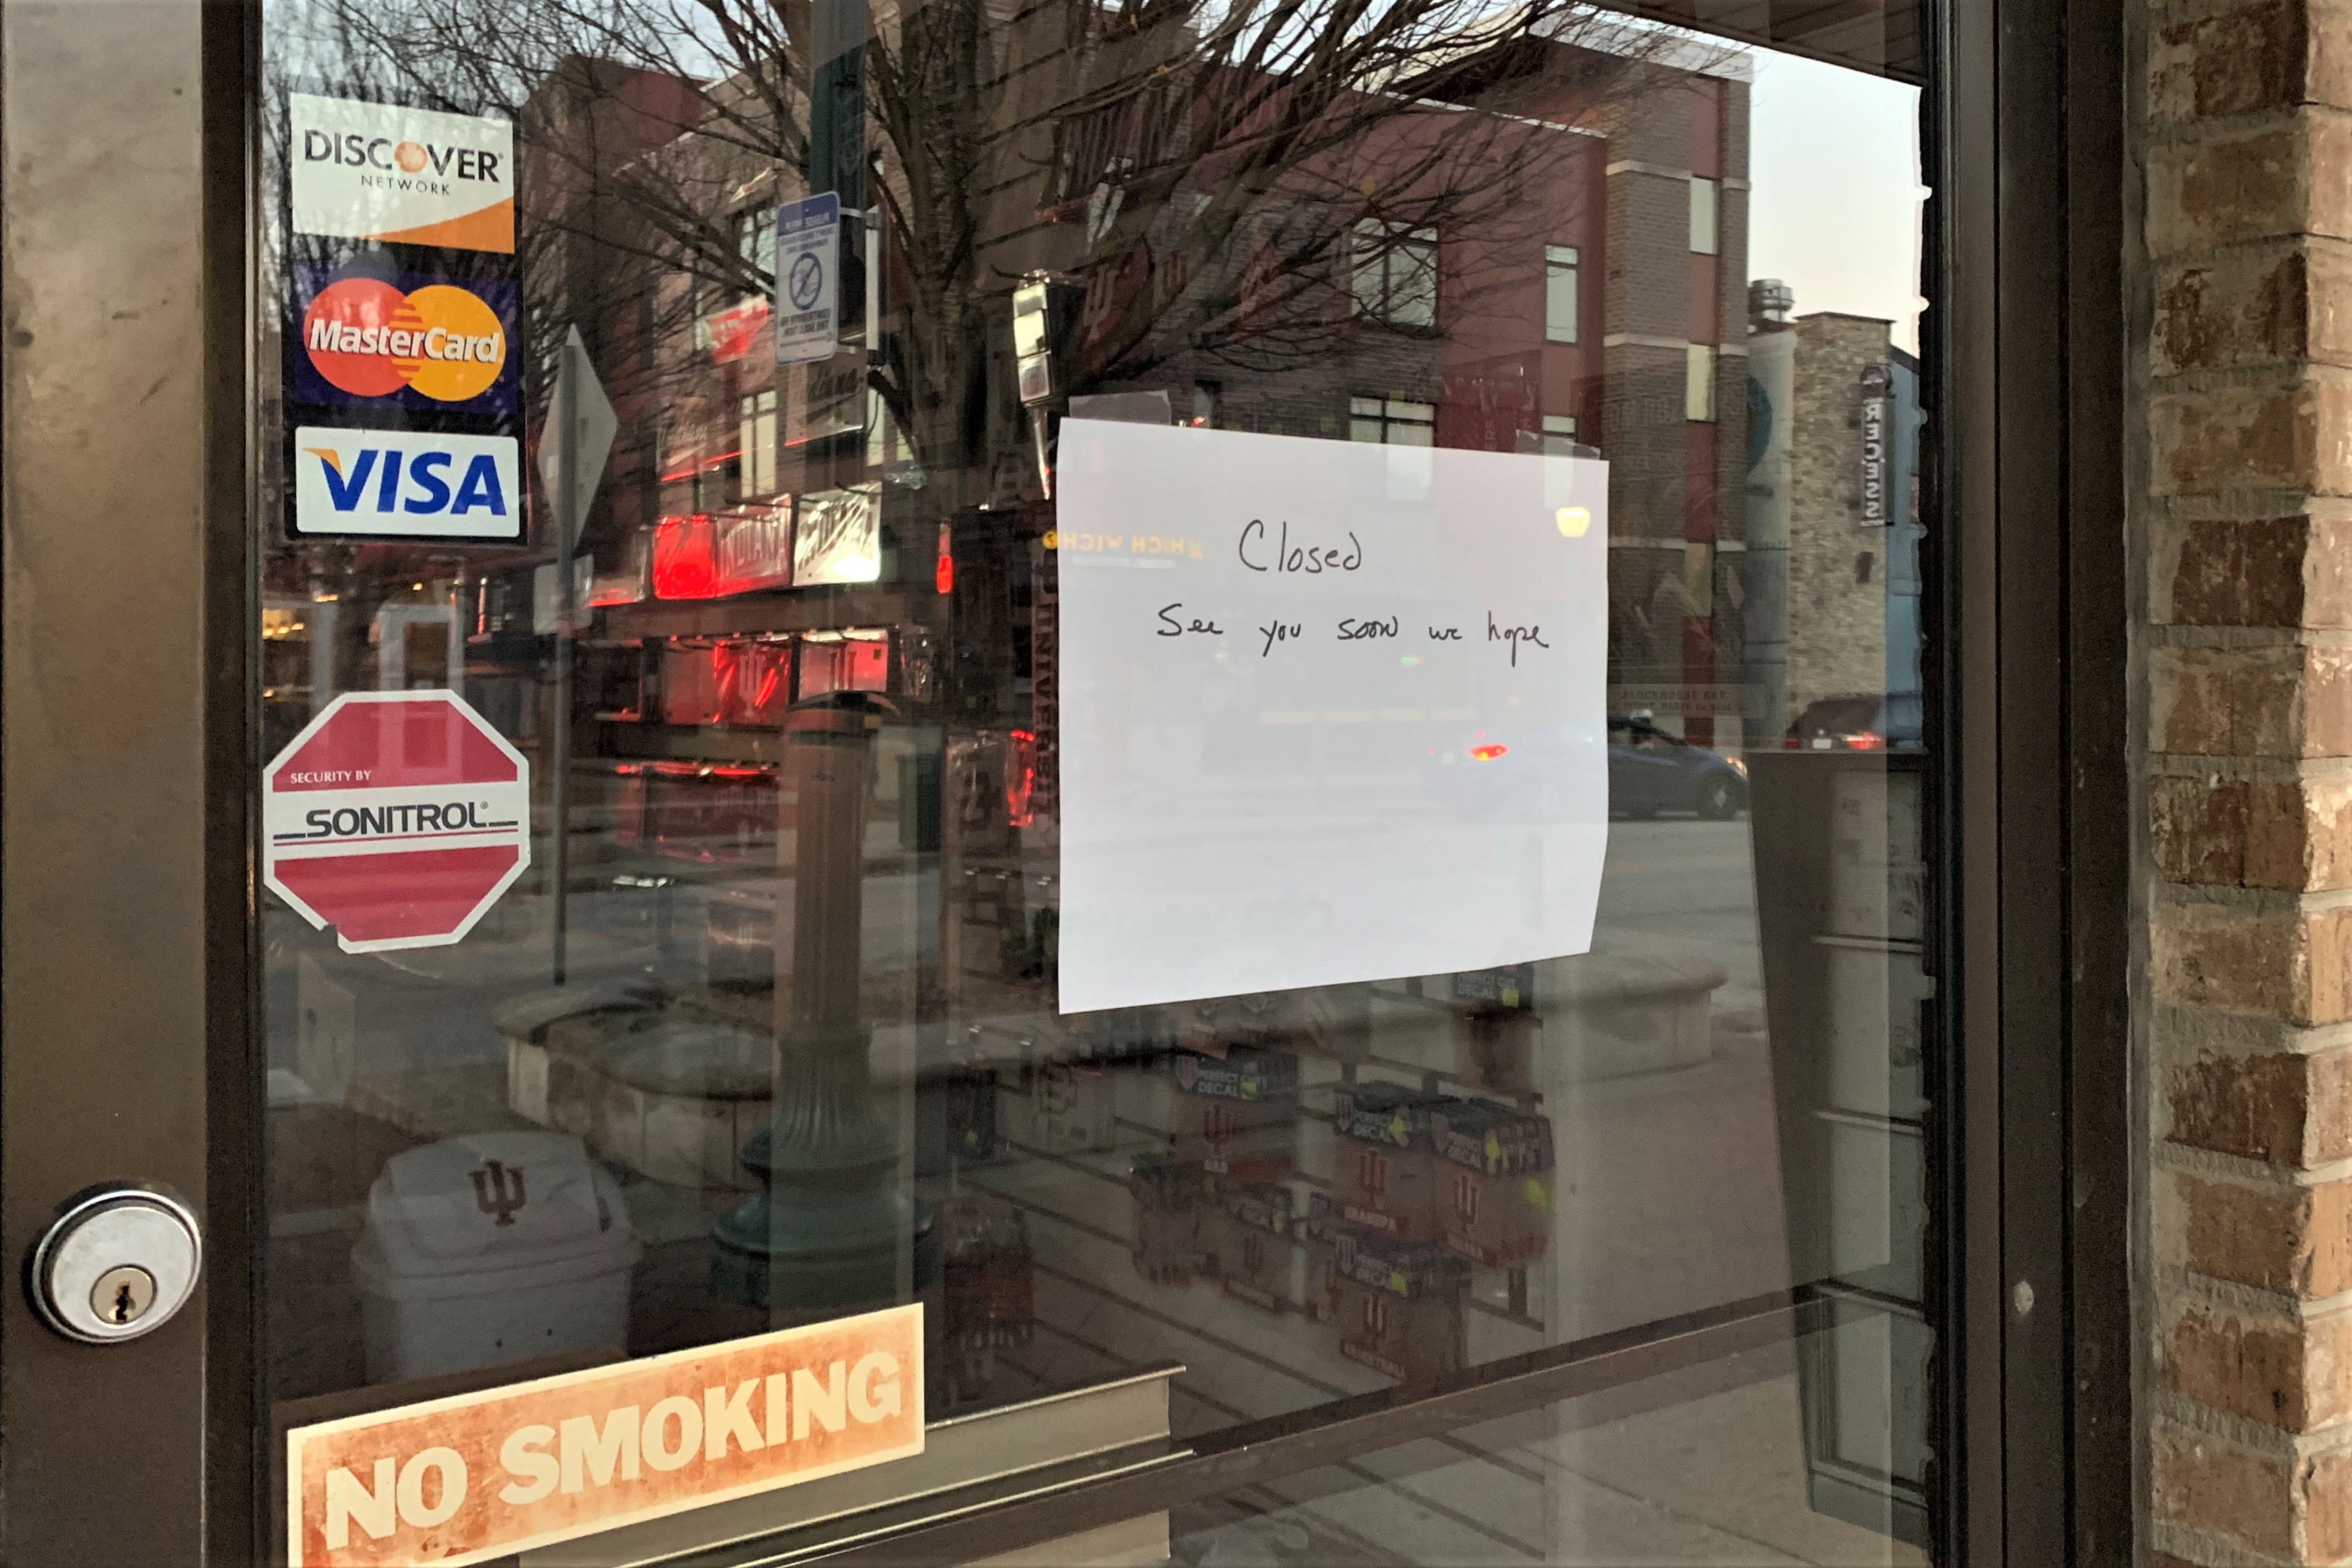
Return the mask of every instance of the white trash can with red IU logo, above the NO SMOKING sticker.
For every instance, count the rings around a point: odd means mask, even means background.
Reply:
[[[621,1345],[640,1251],[579,1138],[477,1133],[395,1154],[350,1251],[367,1380]]]

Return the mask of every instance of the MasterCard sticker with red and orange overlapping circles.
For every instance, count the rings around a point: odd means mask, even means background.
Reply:
[[[294,397],[513,414],[515,284],[487,277],[306,280],[294,315]]]

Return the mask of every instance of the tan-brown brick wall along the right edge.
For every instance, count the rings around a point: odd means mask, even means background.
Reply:
[[[2352,1559],[2347,24],[2143,12],[2159,1566]]]

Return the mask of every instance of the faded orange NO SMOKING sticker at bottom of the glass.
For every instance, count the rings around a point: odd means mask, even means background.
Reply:
[[[294,1568],[482,1563],[922,1453],[922,1305],[287,1432]]]

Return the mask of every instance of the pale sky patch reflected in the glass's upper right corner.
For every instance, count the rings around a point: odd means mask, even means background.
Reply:
[[[1919,89],[1755,52],[1748,275],[1778,277],[1795,315],[1893,322],[1919,353]]]

